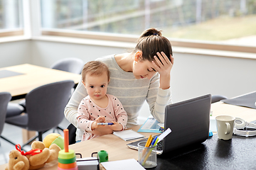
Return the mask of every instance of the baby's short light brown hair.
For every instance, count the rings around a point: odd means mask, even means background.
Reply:
[[[106,64],[99,61],[87,62],[82,68],[82,81],[85,81],[87,74],[92,76],[101,76],[105,72],[107,72],[107,81],[110,81],[110,70]]]

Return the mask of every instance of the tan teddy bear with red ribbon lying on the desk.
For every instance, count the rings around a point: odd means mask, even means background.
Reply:
[[[58,152],[61,150],[58,145],[50,145],[49,148],[40,141],[34,141],[31,151],[21,151],[21,146],[16,145],[16,150],[9,154],[9,166],[6,170],[28,170],[41,169],[46,163],[58,159]]]

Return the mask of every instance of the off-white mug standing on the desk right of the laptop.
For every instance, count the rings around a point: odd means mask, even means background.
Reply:
[[[218,115],[215,119],[218,138],[220,140],[232,139],[235,118],[230,115]]]

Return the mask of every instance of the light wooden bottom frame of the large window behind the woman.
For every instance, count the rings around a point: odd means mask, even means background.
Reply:
[[[110,40],[117,42],[136,42],[139,35],[121,35],[110,33],[95,33],[75,30],[60,30],[60,29],[42,29],[42,35],[61,36],[69,38],[87,38],[94,40]],[[206,50],[224,50],[232,52],[250,52],[256,53],[256,47],[246,45],[231,45],[220,42],[211,42],[203,40],[186,40],[169,38],[172,46],[189,47]]]

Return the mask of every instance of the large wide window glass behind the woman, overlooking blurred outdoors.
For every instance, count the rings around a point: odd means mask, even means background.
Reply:
[[[41,0],[42,27],[256,45],[256,0]]]

